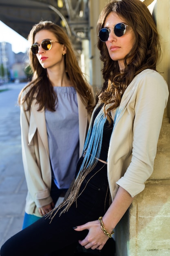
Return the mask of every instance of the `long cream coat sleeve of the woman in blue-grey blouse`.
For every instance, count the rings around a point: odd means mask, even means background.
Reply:
[[[42,178],[36,126],[30,128],[30,111],[25,111],[26,102],[20,107],[22,161],[28,191],[37,207],[52,202],[50,191]]]

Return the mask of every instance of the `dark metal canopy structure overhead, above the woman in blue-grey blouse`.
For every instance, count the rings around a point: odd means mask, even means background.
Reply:
[[[66,29],[76,49],[89,39],[88,0],[0,0],[0,20],[27,38],[40,20],[51,20]]]

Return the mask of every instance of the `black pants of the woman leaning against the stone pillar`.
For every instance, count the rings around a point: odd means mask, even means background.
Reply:
[[[101,170],[97,172],[99,169]],[[87,183],[91,175],[93,178]],[[0,255],[61,256],[64,248],[69,247],[74,250],[78,240],[83,240],[88,234],[88,230],[75,231],[73,227],[97,220],[99,216],[104,215],[109,207],[107,165],[98,162],[82,183],[80,192],[82,189],[84,191],[77,199],[77,207],[73,203],[68,211],[60,217],[57,213],[51,223],[49,218],[43,216],[7,240],[1,247]]]

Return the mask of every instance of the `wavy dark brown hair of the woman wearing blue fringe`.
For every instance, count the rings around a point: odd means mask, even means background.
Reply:
[[[113,61],[106,47],[106,43],[98,38],[100,59],[104,62],[102,74],[104,84],[99,94],[99,101],[104,103],[105,114],[110,121],[110,110],[120,104],[122,95],[132,79],[145,69],[156,70],[161,54],[159,35],[155,21],[140,0],[112,0],[103,9],[97,22],[97,34],[104,27],[106,17],[110,12],[116,13],[135,33],[135,43],[131,51],[124,58],[124,73],[120,73],[117,61]],[[130,62],[127,60],[131,60]],[[106,110],[106,106],[110,106]]]

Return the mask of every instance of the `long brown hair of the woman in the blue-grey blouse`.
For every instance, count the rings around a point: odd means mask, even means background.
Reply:
[[[73,49],[70,39],[68,38],[68,35],[64,31],[64,29],[62,29],[62,27],[56,25],[55,23],[51,21],[40,21],[38,24],[35,24],[33,26],[29,33],[28,40],[31,45],[34,43],[35,34],[43,29],[51,31],[56,36],[60,44],[66,46],[67,52],[64,55],[66,74],[71,80],[71,83],[73,84],[75,90],[79,93],[88,112],[91,113],[94,107],[94,96],[92,93],[92,88],[91,85],[89,85],[86,81],[85,76],[79,67],[75,51]],[[37,103],[39,103],[38,110],[42,110],[42,108],[44,107],[48,110],[55,111],[57,94],[54,92],[53,86],[49,81],[46,69],[44,69],[40,65],[38,58],[32,53],[31,49],[29,49],[28,55],[29,65],[33,72],[33,78],[32,81],[21,90],[18,97],[18,103],[19,105],[21,105],[22,103],[24,103],[24,101],[26,101],[28,106],[26,110],[29,110],[31,108],[31,103],[34,97],[36,97]],[[22,99],[22,92],[28,87],[30,88],[28,92],[26,92],[25,97]]]

